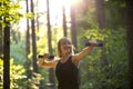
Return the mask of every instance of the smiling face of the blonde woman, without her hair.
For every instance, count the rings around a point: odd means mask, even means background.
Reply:
[[[71,52],[71,42],[66,39],[61,40],[60,49],[62,53],[70,53]]]

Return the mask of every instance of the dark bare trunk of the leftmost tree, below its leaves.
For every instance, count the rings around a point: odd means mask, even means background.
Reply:
[[[9,22],[4,21],[9,24]],[[10,89],[10,27],[4,27],[3,43],[3,89]]]

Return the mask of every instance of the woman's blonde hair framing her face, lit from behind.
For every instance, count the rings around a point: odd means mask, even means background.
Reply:
[[[61,51],[61,41],[63,41],[63,40],[65,40],[65,41],[69,41],[70,42],[70,44],[72,44],[72,41],[69,39],[69,38],[66,38],[66,37],[63,37],[63,38],[61,38],[60,40],[59,40],[59,42],[58,42],[58,57],[62,57],[62,51]],[[73,51],[73,47],[71,46],[70,47],[70,52],[69,52],[69,55],[74,55],[74,51]]]

